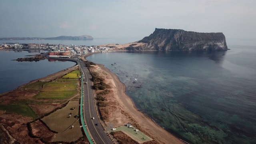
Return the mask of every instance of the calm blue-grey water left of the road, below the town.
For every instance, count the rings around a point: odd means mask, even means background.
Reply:
[[[40,52],[43,51],[0,51],[0,93],[14,90],[18,86],[26,84],[31,80],[43,78],[76,64],[68,61],[16,61],[17,58],[24,58],[26,55],[40,54]]]

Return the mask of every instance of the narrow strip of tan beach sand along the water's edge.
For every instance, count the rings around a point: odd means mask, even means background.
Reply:
[[[122,107],[132,117],[132,119],[138,122],[144,131],[148,132],[150,136],[159,143],[168,144],[171,142],[172,144],[185,144],[183,140],[177,138],[170,132],[167,132],[149,116],[138,110],[132,99],[126,94],[126,86],[119,80],[118,76],[110,72],[110,70],[104,67],[103,64],[97,65],[113,80],[114,84],[112,84],[112,86],[114,86],[119,106]]]

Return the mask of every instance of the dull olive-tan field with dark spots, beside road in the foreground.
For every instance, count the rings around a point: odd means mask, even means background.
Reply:
[[[53,141],[72,142],[83,136],[82,129],[79,127],[79,119],[75,118],[79,114],[78,105],[79,100],[72,100],[64,108],[42,118],[51,130],[58,132]],[[70,110],[71,108],[74,110]],[[72,126],[74,127],[72,128]]]

